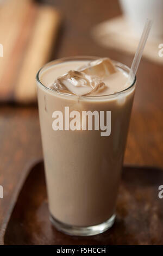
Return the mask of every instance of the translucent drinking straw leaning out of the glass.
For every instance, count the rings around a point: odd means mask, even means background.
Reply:
[[[133,63],[130,68],[129,80],[132,75],[134,75],[134,77],[136,75],[136,72],[139,67],[141,57],[142,57],[142,53],[143,53],[143,50],[145,48],[145,45],[146,45],[146,42],[148,39],[149,32],[151,31],[151,28],[152,28],[152,23],[153,23],[152,20],[147,19],[145,27],[144,27],[142,35],[141,35],[141,38],[140,38],[139,45],[137,46],[137,50],[136,50],[136,53],[135,53],[135,56],[133,59]]]

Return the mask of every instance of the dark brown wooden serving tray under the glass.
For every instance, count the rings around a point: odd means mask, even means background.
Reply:
[[[90,237],[68,236],[49,221],[43,163],[31,170],[11,214],[5,245],[162,245],[163,171],[124,167],[114,226]]]

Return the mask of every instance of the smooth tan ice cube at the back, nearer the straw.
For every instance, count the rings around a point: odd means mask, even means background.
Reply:
[[[78,70],[87,75],[96,76],[101,79],[106,78],[116,72],[116,68],[109,58],[93,60],[88,65],[85,65]]]

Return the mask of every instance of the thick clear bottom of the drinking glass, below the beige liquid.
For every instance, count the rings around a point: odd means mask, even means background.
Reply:
[[[77,236],[90,236],[90,235],[97,235],[101,234],[104,231],[108,230],[112,227],[112,225],[115,222],[116,215],[112,215],[109,220],[98,224],[93,225],[90,227],[79,227],[79,226],[73,226],[73,225],[67,225],[60,221],[55,220],[55,218],[50,215],[50,220],[59,231],[62,231],[65,234],[68,235],[77,235]]]

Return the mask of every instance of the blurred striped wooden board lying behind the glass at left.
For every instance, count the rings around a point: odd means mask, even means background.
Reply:
[[[60,15],[32,0],[7,0],[0,5],[0,102],[36,101],[35,75],[50,56]]]

